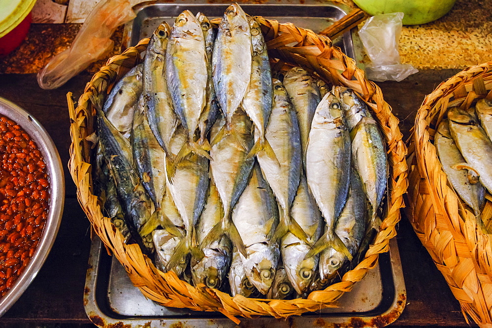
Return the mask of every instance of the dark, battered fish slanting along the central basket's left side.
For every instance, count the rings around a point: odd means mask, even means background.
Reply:
[[[151,236],[141,231],[154,213],[154,203],[133,167],[130,144],[100,109],[97,111],[97,130],[101,151],[115,181],[124,218],[132,236],[151,251]]]

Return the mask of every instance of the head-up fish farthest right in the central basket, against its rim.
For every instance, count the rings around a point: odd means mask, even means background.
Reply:
[[[352,162],[371,205],[371,226],[379,229],[376,211],[386,192],[388,163],[383,137],[366,104],[354,91],[337,87],[352,138]]]

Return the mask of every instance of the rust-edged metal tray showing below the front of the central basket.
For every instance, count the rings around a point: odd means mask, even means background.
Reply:
[[[338,300],[338,308],[292,316],[287,320],[272,317],[241,319],[243,327],[312,327],[312,326],[385,326],[400,316],[406,303],[397,241],[390,241],[390,251],[379,256],[378,265],[351,292]],[[94,237],[89,257],[84,293],[86,313],[98,326],[123,325],[145,327],[234,327],[218,312],[200,312],[161,306],[146,299],[131,284],[123,266],[109,256],[102,242]]]

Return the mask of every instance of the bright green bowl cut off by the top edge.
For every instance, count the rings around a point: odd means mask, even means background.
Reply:
[[[403,25],[425,24],[444,16],[456,0],[354,0],[369,15],[402,12]]]

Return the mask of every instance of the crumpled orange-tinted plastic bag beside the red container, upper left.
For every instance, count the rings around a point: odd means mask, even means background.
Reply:
[[[107,55],[114,46],[110,39],[117,27],[135,18],[128,0],[102,0],[87,17],[70,48],[53,57],[37,73],[43,89],[56,89],[92,62]]]

